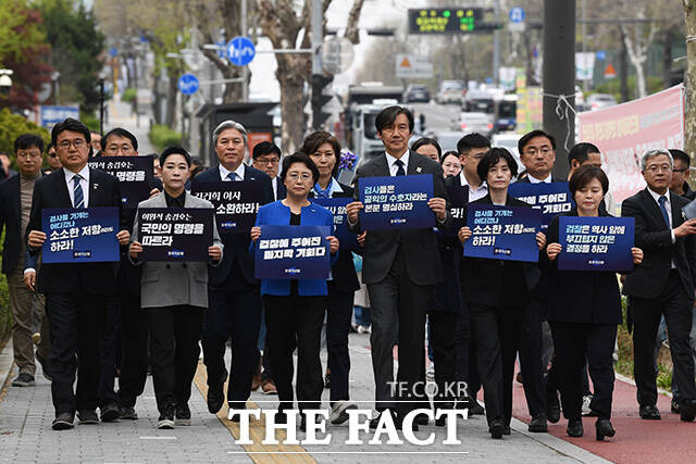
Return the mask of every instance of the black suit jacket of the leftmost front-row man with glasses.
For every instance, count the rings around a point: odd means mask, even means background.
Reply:
[[[89,168],[88,208],[115,206],[121,211],[121,229],[127,229],[126,218],[121,209],[119,179],[110,174]],[[26,227],[25,240],[29,231],[41,230],[41,210],[46,208],[73,208],[65,184],[63,168],[36,180],[32,198],[32,216]],[[40,249],[29,249],[36,255]],[[66,293],[82,284],[89,294],[115,293],[115,277],[119,263],[44,263],[38,272],[37,287],[41,293]]]

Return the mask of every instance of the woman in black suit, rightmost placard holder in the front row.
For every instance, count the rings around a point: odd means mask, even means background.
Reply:
[[[599,214],[599,206],[609,190],[609,179],[594,165],[581,166],[568,185],[576,209],[569,216],[610,216]],[[597,440],[613,437],[611,396],[613,392],[613,347],[617,326],[621,324],[621,296],[617,274],[601,271],[559,271],[559,217],[548,227],[546,255],[549,279],[548,322],[551,325],[556,365],[559,369],[563,416],[568,419],[568,435],[582,437],[582,377],[585,356],[595,388],[589,409],[598,417],[595,423]],[[632,248],[634,264],[643,261],[643,250]]]

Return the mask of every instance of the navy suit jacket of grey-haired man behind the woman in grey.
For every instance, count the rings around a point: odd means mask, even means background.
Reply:
[[[263,200],[261,201],[261,204],[273,202],[273,185],[271,184],[271,177],[248,165],[245,166],[244,170],[245,180],[258,180],[262,183]],[[211,167],[197,175],[194,178],[194,184],[199,181],[222,181],[222,178],[220,177],[220,167]],[[211,285],[221,285],[225,283],[229,277],[229,274],[233,272],[233,264],[236,264],[239,267],[241,275],[247,280],[246,285],[259,285],[259,280],[253,278],[253,258],[249,255],[250,241],[251,238],[249,237],[249,234],[222,235],[222,242],[225,246],[225,254],[220,266],[211,267],[209,269],[209,281]]]

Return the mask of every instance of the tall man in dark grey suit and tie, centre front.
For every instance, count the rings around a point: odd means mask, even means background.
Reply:
[[[355,200],[348,203],[348,223],[352,231],[362,231],[358,213],[364,206],[359,201],[360,178],[430,174],[434,197],[428,206],[435,213],[437,226],[445,229],[451,222],[447,192],[439,163],[411,153],[408,141],[413,131],[413,114],[402,106],[384,109],[375,120],[385,153],[360,166],[356,173]],[[372,309],[372,367],[375,377],[376,410],[394,414],[397,426],[403,415],[422,403],[396,403],[393,391],[393,349],[399,344],[399,371],[396,391],[400,399],[425,400],[415,391],[417,383],[425,378],[423,342],[425,312],[433,285],[443,280],[443,267],[437,239],[432,228],[407,230],[368,230],[363,249],[362,279],[368,285]],[[398,327],[398,333],[395,328]],[[380,417],[372,421],[376,427]],[[418,425],[414,424],[414,428]]]

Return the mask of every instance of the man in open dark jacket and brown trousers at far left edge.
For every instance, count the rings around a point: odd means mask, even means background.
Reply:
[[[34,306],[38,304],[39,315],[44,315],[44,296],[36,294],[24,285],[25,242],[24,234],[32,212],[32,193],[36,179],[41,177],[44,140],[34,134],[24,134],[14,141],[14,154],[20,175],[14,175],[0,184],[0,235],[3,225],[5,236],[2,252],[2,273],[8,278],[10,309],[12,310],[12,347],[14,362],[20,368],[12,380],[15,387],[35,385],[36,364],[32,335],[37,324],[33,321]],[[49,340],[45,340],[49,343]],[[45,361],[39,356],[39,361]],[[47,374],[47,373],[46,373]]]

